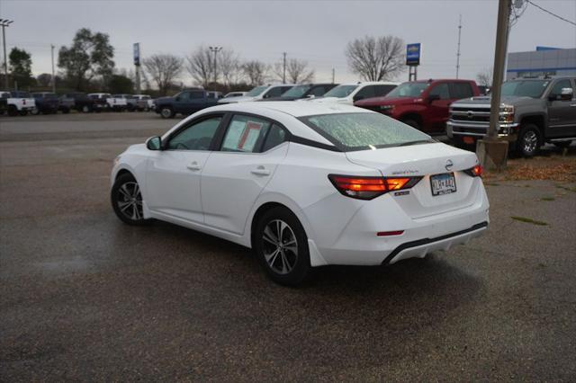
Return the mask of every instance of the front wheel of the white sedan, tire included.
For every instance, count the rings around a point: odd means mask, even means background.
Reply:
[[[116,217],[128,225],[145,225],[148,219],[142,214],[142,194],[132,174],[121,174],[110,192],[112,209]]]

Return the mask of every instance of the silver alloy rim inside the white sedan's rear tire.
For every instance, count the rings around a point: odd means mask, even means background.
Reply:
[[[268,267],[278,274],[293,271],[298,261],[298,241],[292,227],[281,219],[266,225],[262,234],[264,258]]]

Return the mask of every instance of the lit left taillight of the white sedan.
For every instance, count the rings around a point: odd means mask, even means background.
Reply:
[[[328,178],[342,195],[358,200],[372,200],[388,191],[410,189],[422,179],[422,177],[363,177],[338,174],[329,174]]]

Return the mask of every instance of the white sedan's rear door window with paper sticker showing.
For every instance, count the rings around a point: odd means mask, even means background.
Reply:
[[[270,122],[237,114],[232,117],[222,141],[223,152],[254,153],[262,146]]]

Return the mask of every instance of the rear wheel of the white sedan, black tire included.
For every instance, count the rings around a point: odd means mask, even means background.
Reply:
[[[258,262],[276,283],[297,286],[310,275],[308,237],[289,209],[266,211],[257,222],[252,243]]]

